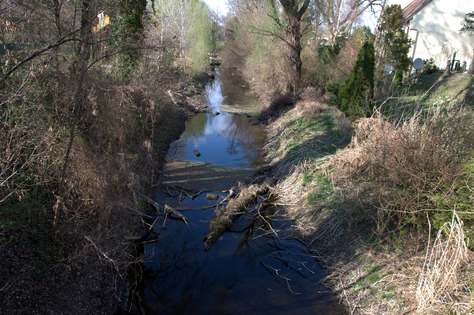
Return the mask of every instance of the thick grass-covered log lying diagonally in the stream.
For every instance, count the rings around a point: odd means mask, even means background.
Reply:
[[[202,238],[204,245],[206,245],[205,251],[209,251],[220,235],[226,232],[234,222],[245,213],[247,207],[255,204],[257,198],[262,196],[275,185],[277,179],[272,178],[265,181],[262,186],[253,185],[248,189],[240,187],[240,193],[235,199],[229,200],[226,207],[216,209],[216,218],[211,221],[210,233]]]

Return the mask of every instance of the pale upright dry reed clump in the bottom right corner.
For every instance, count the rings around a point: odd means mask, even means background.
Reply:
[[[450,293],[457,291],[459,280],[456,279],[456,271],[466,258],[466,251],[463,222],[454,211],[452,222],[445,223],[439,229],[429,258],[428,243],[416,291],[419,314],[431,313],[433,309],[444,309],[455,314],[465,311],[465,303],[457,303]],[[472,309],[472,306],[470,308]]]

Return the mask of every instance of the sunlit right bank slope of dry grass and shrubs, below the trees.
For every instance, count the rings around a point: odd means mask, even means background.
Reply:
[[[434,95],[354,125],[300,100],[269,126],[274,192],[353,314],[472,311],[474,115]]]

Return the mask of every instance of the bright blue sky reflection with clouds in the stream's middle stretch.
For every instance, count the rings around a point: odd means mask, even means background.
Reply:
[[[180,139],[173,142],[168,157],[187,161],[209,161],[215,164],[234,167],[258,167],[263,162],[261,150],[265,132],[258,125],[252,126],[255,119],[220,111],[223,99],[235,99],[241,103],[254,96],[245,94],[242,89],[235,95],[222,96],[220,76],[206,89],[204,101],[214,107],[212,113],[201,113],[186,122],[186,130]],[[230,106],[230,105],[228,105]],[[245,107],[232,105],[240,112]],[[218,108],[218,109],[216,109]],[[214,116],[215,111],[220,114]],[[248,110],[250,111],[250,110]],[[194,150],[201,153],[200,157]]]

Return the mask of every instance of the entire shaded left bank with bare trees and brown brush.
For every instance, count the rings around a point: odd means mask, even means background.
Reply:
[[[212,50],[205,4],[157,2],[1,3],[1,314],[110,314],[142,259]]]

